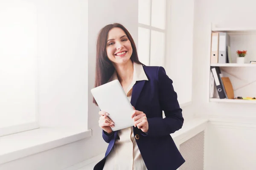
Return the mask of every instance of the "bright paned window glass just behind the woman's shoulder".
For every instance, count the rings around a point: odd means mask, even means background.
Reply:
[[[166,0],[139,0],[138,56],[145,65],[164,66]]]

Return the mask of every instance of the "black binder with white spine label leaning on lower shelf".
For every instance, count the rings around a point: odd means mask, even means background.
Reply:
[[[226,99],[227,97],[224,92],[225,89],[224,89],[223,82],[222,82],[222,79],[220,76],[220,74],[221,74],[220,68],[217,66],[211,66],[211,71],[212,71],[212,75],[214,77],[215,85],[216,85],[220,99]]]

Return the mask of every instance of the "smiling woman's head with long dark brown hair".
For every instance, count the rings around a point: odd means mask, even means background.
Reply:
[[[124,51],[128,54],[117,55],[117,53]],[[96,81],[94,86],[98,87],[108,82],[115,70],[114,63],[125,63],[129,59],[131,62],[143,65],[138,59],[135,42],[128,30],[119,23],[102,28],[96,47]],[[112,63],[112,61],[115,62]],[[95,99],[93,102],[97,104]]]

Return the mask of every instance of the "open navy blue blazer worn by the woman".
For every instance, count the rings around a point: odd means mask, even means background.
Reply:
[[[182,109],[177,101],[177,94],[172,79],[166,75],[163,67],[143,66],[147,80],[137,81],[133,86],[131,105],[143,111],[148,119],[148,133],[133,127],[134,136],[141,156],[148,170],[176,170],[185,160],[177,149],[171,133],[183,125]],[[163,111],[165,118],[163,119]],[[109,143],[104,159],[93,170],[102,170],[106,157],[113,148],[117,131],[108,135],[102,130],[102,137]]]

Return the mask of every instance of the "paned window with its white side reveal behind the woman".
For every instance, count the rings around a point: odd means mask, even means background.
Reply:
[[[139,0],[138,10],[140,61],[165,67],[180,105],[191,104],[193,1]]]

